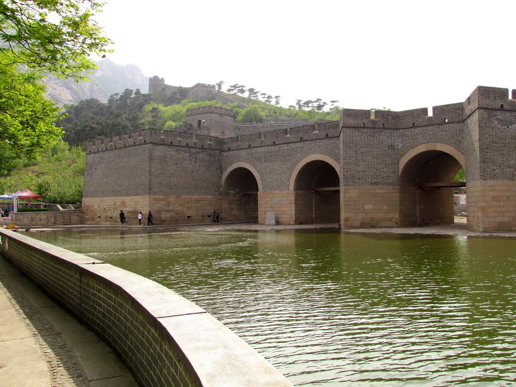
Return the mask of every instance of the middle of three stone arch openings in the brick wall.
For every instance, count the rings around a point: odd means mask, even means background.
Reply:
[[[339,223],[340,177],[333,165],[336,163],[321,159],[301,163],[291,181],[295,224]]]

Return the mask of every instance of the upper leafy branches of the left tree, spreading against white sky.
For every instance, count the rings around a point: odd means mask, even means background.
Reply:
[[[93,20],[102,6],[96,0],[2,0],[0,52],[40,73],[85,79],[95,68],[90,54],[109,52],[110,40]]]

